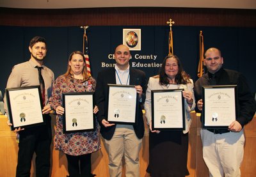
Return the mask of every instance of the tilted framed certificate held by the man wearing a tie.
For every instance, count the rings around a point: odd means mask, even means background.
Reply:
[[[44,124],[40,86],[5,90],[11,130]]]

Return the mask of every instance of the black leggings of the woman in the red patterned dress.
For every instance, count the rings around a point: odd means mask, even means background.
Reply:
[[[91,177],[91,153],[85,155],[67,155],[68,173],[70,177]],[[80,165],[79,165],[80,162]]]

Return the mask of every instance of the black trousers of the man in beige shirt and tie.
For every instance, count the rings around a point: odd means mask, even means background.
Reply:
[[[19,132],[16,177],[30,177],[31,160],[36,153],[36,177],[49,177],[51,158],[51,116],[44,115],[46,125],[25,128]]]

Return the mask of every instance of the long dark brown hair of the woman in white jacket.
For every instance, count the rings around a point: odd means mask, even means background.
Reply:
[[[170,55],[170,56],[166,56],[166,58],[164,58],[163,64],[159,70],[159,84],[161,84],[163,86],[167,86],[169,84],[168,76],[165,73],[165,65],[166,65],[166,60],[168,58],[176,59],[178,66],[179,66],[179,71],[178,71],[177,75],[175,76],[176,84],[191,83],[191,81],[189,80],[190,77],[189,77],[188,73],[184,72],[184,70],[183,70],[182,64],[180,63],[180,59],[175,55]]]

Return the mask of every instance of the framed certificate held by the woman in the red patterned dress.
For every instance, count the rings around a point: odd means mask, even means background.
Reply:
[[[62,93],[63,133],[93,131],[93,92]]]

